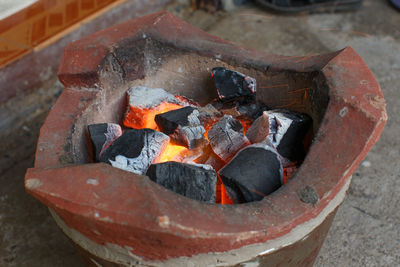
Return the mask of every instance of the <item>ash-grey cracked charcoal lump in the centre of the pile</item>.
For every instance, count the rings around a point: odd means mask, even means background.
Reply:
[[[230,115],[225,115],[208,131],[211,148],[224,161],[250,144],[243,134],[242,124]]]

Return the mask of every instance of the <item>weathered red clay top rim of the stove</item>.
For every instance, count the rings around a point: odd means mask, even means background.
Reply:
[[[159,23],[160,21],[163,23]],[[141,27],[141,25],[151,26]],[[170,28],[177,30],[171,33]],[[318,143],[311,147],[296,179],[261,202],[240,206],[217,206],[177,196],[157,185],[146,184],[141,176],[125,174],[105,164],[91,164],[95,167],[60,164],[60,157],[68,157],[69,151],[65,150],[65,146],[69,142],[68,138],[70,138],[75,117],[84,112],[99,90],[95,88],[98,82],[98,67],[105,55],[109,53],[108,47],[120,42],[124,38],[122,32],[126,34],[126,31],[132,36],[138,36],[137,38],[139,35],[146,34],[161,42],[173,43],[178,48],[191,48],[209,56],[218,54],[223,61],[246,62],[246,64],[263,67],[265,70],[319,71],[325,77],[330,89],[330,102],[316,137]],[[105,34],[109,36],[106,40],[103,38]],[[91,55],[90,42],[93,40],[98,42],[97,47],[93,46],[97,57],[90,57],[88,60],[75,56],[81,49],[89,50],[87,54]],[[201,46],[196,44],[199,40]],[[54,209],[68,227],[78,230],[97,243],[111,240],[111,243],[132,247],[134,254],[150,260],[222,252],[249,244],[264,243],[280,238],[298,225],[316,218],[348,184],[350,175],[377,141],[386,122],[385,101],[379,85],[362,59],[351,48],[312,57],[268,55],[244,49],[208,35],[179,21],[167,12],[136,19],[71,44],[65,51],[59,77],[66,86],[66,90],[41,130],[35,168],[28,170],[26,189]],[[83,86],[82,80],[85,81]],[[78,85],[80,87],[76,88]],[[94,89],[87,89],[88,87]],[[66,98],[69,99],[68,105],[64,101]],[[82,101],[82,99],[86,100]],[[62,110],[64,114],[61,116],[55,114],[57,110]],[[357,122],[358,129],[339,128],[340,125],[351,125],[352,122]],[[334,130],[338,128],[340,131]],[[354,135],[357,136],[357,140],[352,138]],[[350,142],[343,144],[340,141],[341,138]],[[331,144],[328,145],[327,140]],[[320,155],[326,156],[321,158]],[[338,158],[341,160],[337,160]],[[334,167],[328,166],[328,163]],[[148,212],[144,209],[138,212],[139,215],[127,212],[128,209],[124,206],[115,207],[114,205],[104,209],[101,208],[107,206],[104,203],[85,199],[83,196],[74,196],[71,192],[61,190],[71,183],[68,179],[71,175],[91,172],[94,168],[103,172],[104,175],[110,174],[121,181],[129,177],[131,186],[143,185],[143,190],[154,195],[154,200],[150,201],[154,208],[152,217],[141,216]],[[56,183],[54,177],[57,177]],[[103,181],[106,181],[106,176],[99,178],[99,183]],[[124,183],[126,186],[127,182]],[[61,189],[58,187],[60,185],[63,185]],[[318,195],[320,201],[315,205],[300,200],[298,195],[305,186],[312,187]],[[162,199],[171,201],[169,205],[163,206],[160,202]],[[283,201],[285,203],[282,203]],[[172,205],[179,209],[171,207]],[[101,218],[96,216],[95,210],[101,210]],[[210,218],[209,215],[207,217],[206,213],[218,213],[220,218],[218,217],[216,222],[214,217]],[[244,214],[256,214],[254,216],[256,219],[250,218],[250,222],[246,223],[245,219],[240,217]],[[186,218],[182,218],[181,215]],[[203,228],[197,227],[195,222],[197,219],[201,219],[200,225]],[[239,219],[240,223],[238,223]],[[86,228],[85,224],[90,223],[96,225],[98,232],[101,233],[100,236],[91,233]],[[210,227],[212,223],[216,225]],[[133,233],[132,235],[137,233],[137,229],[148,230],[148,234],[159,238],[161,249],[154,253],[154,251],[148,251],[151,244],[138,245],[129,238],[123,237],[117,240],[113,238],[114,226],[118,226],[122,233]],[[158,237],[159,235],[161,237]],[[171,238],[174,241],[169,243],[170,245],[181,244],[182,249],[177,249],[179,254],[164,251],[165,244],[171,242]],[[184,242],[187,239],[190,241]]]

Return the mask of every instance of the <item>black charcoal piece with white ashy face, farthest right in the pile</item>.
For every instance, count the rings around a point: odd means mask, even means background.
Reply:
[[[268,138],[279,154],[293,162],[303,160],[303,139],[312,124],[311,118],[303,113],[283,109],[264,113],[269,117]]]

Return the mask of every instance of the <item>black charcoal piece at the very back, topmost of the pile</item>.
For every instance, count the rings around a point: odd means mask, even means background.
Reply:
[[[241,97],[255,100],[257,85],[254,78],[223,67],[213,68],[212,74],[221,101],[231,101]]]

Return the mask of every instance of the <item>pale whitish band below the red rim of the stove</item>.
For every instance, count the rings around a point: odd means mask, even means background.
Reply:
[[[68,227],[53,209],[49,208],[49,210],[57,225],[73,240],[73,242],[101,259],[122,264],[123,266],[192,266],[194,263],[201,264],[202,266],[226,266],[250,262],[257,264],[257,262],[254,262],[255,257],[265,256],[283,247],[290,246],[295,242],[306,239],[309,234],[323,223],[326,217],[343,202],[351,179],[351,176],[347,178],[346,183],[340,191],[315,218],[296,226],[284,236],[262,244],[248,245],[226,252],[203,253],[192,257],[171,258],[161,262],[145,261],[141,257],[134,255],[131,252],[132,248],[128,246],[121,247],[112,243],[100,245],[82,235],[77,230]]]

